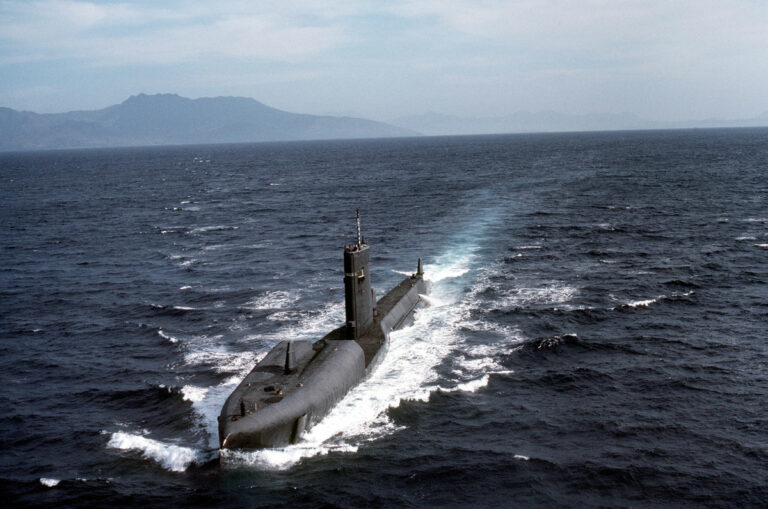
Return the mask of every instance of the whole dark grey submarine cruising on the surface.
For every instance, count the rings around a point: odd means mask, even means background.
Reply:
[[[221,449],[262,449],[297,443],[381,362],[391,331],[413,319],[429,291],[421,258],[376,301],[370,247],[360,230],[344,246],[346,323],[316,341],[281,341],[227,398],[218,418]]]

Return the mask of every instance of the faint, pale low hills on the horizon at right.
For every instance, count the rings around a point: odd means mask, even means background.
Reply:
[[[568,115],[554,111],[521,111],[498,117],[456,117],[425,113],[400,117],[392,124],[419,131],[425,135],[497,134],[564,131],[615,131],[631,129],[684,129],[695,127],[763,127],[768,126],[768,113],[740,119],[706,119],[684,122],[644,120],[632,113]]]

